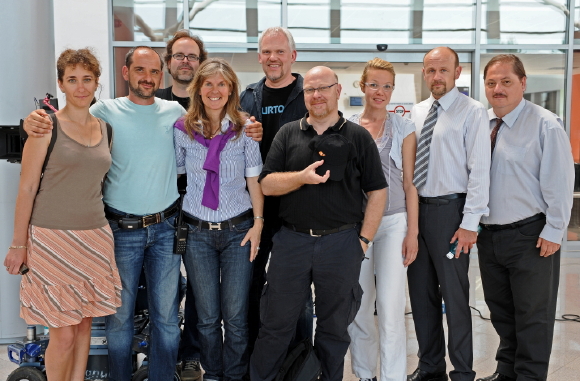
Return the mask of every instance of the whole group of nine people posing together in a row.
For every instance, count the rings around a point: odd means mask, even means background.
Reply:
[[[375,58],[360,79],[364,109],[346,119],[336,73],[292,73],[296,55],[287,29],[265,30],[265,77],[239,95],[231,66],[179,31],[164,59],[131,49],[129,95],[93,106],[94,55],[59,57],[67,103],[25,120],[31,137],[4,262],[11,274],[30,268],[21,315],[51,328],[49,380],[84,379],[96,316],[107,316],[109,378],[130,379],[144,269],[150,380],[171,379],[178,360],[186,380],[199,379],[200,368],[207,381],[273,380],[293,343],[312,337],[314,285],[322,380],[342,379],[349,347],[362,381],[447,380],[445,301],[449,377],[473,381],[474,244],[500,336],[497,369],[479,380],[545,380],[574,171],[562,121],[523,97],[520,59],[499,55],[486,65],[485,110],[455,86],[455,51],[429,51],[431,96],[407,119],[388,112],[395,71]],[[164,63],[173,85],[160,90]],[[188,225],[181,334],[178,184]],[[409,376],[406,280],[419,344]]]

